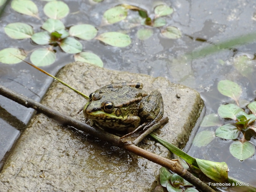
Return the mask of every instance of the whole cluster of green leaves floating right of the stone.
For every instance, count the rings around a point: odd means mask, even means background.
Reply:
[[[230,153],[239,160],[250,158],[255,153],[255,146],[250,142],[251,138],[256,135],[256,101],[247,105],[250,113],[246,113],[239,107],[239,98],[242,93],[242,88],[235,82],[229,80],[221,80],[218,83],[218,90],[221,94],[232,98],[236,104],[220,105],[217,114],[209,114],[204,117],[201,126],[219,126],[215,131],[215,136],[227,140],[233,140],[230,144]],[[225,119],[227,122],[221,125],[219,117]],[[207,140],[202,142],[200,137],[207,137]],[[211,135],[209,137],[209,135]],[[198,147],[207,145],[214,138],[212,131],[202,131],[196,138],[194,144]],[[201,141],[200,141],[201,140]]]

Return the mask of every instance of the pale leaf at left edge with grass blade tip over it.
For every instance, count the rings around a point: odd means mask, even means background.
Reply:
[[[5,48],[0,51],[0,62],[2,63],[6,63],[6,64],[20,63],[22,60],[20,60],[17,57],[24,60],[27,57],[27,55],[22,49],[17,49],[17,48]]]

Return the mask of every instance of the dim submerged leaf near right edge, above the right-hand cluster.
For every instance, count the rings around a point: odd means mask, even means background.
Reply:
[[[241,73],[244,77],[251,77],[254,73],[254,65],[255,61],[253,62],[248,56],[241,55],[239,57],[234,58],[234,66],[239,73]]]

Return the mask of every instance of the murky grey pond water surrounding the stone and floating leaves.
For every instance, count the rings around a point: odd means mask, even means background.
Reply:
[[[122,31],[131,37],[132,43],[124,48],[104,45],[96,39],[80,41],[83,45],[83,51],[97,54],[103,61],[105,68],[144,73],[154,77],[162,76],[171,82],[194,88],[200,92],[205,101],[205,115],[217,113],[218,107],[223,103],[234,103],[232,99],[218,91],[217,84],[220,80],[228,79],[242,87],[240,97],[242,107],[246,105],[245,101],[249,102],[256,98],[254,83],[256,79],[253,75],[255,71],[254,60],[252,60],[250,68],[245,69],[249,71],[246,73],[247,75],[241,73],[241,68],[233,64],[234,58],[239,55],[246,54],[248,57],[254,58],[255,42],[251,41],[245,45],[237,45],[232,49],[220,49],[215,53],[205,54],[204,57],[197,57],[192,60],[182,59],[183,55],[194,50],[255,32],[256,2],[249,0],[172,0],[147,1],[146,3],[142,0],[105,0],[100,3],[69,0],[64,2],[70,8],[70,14],[61,19],[66,27],[86,23],[95,26],[98,29],[98,34],[108,31]],[[35,32],[42,31],[40,26],[48,18],[42,11],[47,2],[35,1],[35,3],[39,8],[40,20],[17,13],[8,2],[1,15],[0,36],[2,43],[0,50],[14,47],[32,51],[35,48],[44,47],[44,45],[32,43],[29,39],[11,39],[3,29],[8,23],[23,22],[33,26]],[[163,37],[160,33],[161,29],[166,27],[163,26],[152,28],[154,33],[151,38],[139,40],[136,38],[136,32],[145,26],[138,24],[132,27],[130,25],[138,18],[138,13],[135,11],[129,11],[128,17],[123,21],[111,25],[102,25],[104,12],[122,3],[143,8],[148,11],[151,17],[154,16],[154,8],[157,5],[165,4],[172,7],[174,9],[173,14],[164,16],[164,18],[167,21],[167,26],[175,26],[180,29],[182,37],[179,39]],[[204,41],[199,38],[204,39]],[[52,65],[42,67],[51,74],[57,73],[61,67],[74,61],[73,54],[64,53],[59,48],[55,49],[57,51],[57,61]],[[28,58],[26,60],[29,61]],[[12,65],[0,63],[0,82],[1,85],[35,101],[40,101],[52,79],[23,62]],[[19,138],[34,111],[2,96],[0,96],[0,106],[0,159],[2,159],[4,156],[5,158],[8,156],[8,151]],[[217,162],[225,161],[230,169],[229,176],[255,185],[255,179],[252,180],[255,175],[255,155],[244,161],[239,161],[229,153],[229,145],[232,141],[218,137],[215,137],[205,147],[191,146],[195,133],[203,130],[215,131],[216,129],[217,126],[195,129],[185,150],[189,150],[188,153],[196,158]],[[255,144],[253,140],[252,138],[251,142]],[[1,166],[3,164],[4,160]]]

